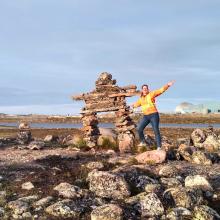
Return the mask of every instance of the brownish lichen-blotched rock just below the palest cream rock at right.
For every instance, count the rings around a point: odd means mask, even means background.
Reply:
[[[190,209],[195,205],[200,205],[204,202],[203,193],[200,189],[185,187],[170,188],[165,191],[164,196],[168,200],[172,198],[175,206],[187,209]]]

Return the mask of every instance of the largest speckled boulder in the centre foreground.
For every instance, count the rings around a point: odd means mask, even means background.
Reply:
[[[127,182],[121,176],[94,170],[88,174],[89,189],[102,198],[124,199],[130,196]]]

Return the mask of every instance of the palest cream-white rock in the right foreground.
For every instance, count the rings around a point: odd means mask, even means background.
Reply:
[[[206,177],[201,175],[187,176],[185,179],[185,186],[213,191],[209,181],[206,179]]]

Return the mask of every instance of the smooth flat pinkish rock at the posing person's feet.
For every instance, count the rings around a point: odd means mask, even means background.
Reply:
[[[166,152],[164,150],[152,150],[146,151],[135,157],[138,163],[143,164],[157,164],[163,163],[166,160]]]

